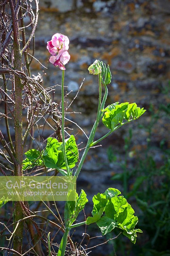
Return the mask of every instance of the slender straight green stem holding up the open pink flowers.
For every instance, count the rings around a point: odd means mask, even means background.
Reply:
[[[67,164],[65,140],[64,140],[64,70],[62,70],[62,140],[63,140],[64,161],[65,161],[67,173],[69,175],[70,172],[69,172],[69,166]]]

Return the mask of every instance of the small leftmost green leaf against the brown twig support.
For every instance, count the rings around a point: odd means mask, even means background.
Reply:
[[[23,170],[33,168],[36,165],[43,165],[41,153],[37,149],[30,149],[26,153],[26,159],[23,160]]]

